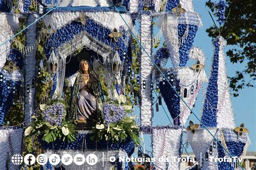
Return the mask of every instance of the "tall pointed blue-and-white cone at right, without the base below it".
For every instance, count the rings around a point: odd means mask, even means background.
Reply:
[[[207,127],[235,128],[226,63],[223,49],[226,41],[218,37],[213,41],[214,56],[206,91],[201,122]]]

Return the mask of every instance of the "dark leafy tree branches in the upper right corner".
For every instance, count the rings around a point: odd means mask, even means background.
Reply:
[[[221,36],[227,40],[227,45],[231,45],[226,53],[230,61],[232,63],[246,63],[243,70],[237,70],[235,76],[228,77],[233,96],[238,96],[240,89],[254,87],[254,80],[256,80],[256,25],[254,19],[256,1],[226,0],[226,3],[228,5],[225,13],[227,19],[224,25],[220,29],[211,26],[206,32],[209,37],[215,38],[219,36],[219,30],[222,30],[220,31]],[[217,4],[213,0],[208,0],[206,6],[214,14],[218,12]],[[250,79],[247,80],[245,75],[248,75]]]

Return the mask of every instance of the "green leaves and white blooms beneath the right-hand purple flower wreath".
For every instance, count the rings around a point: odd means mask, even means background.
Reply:
[[[93,136],[91,140],[100,141],[104,138],[105,140],[111,140],[113,143],[118,143],[130,137],[139,146],[139,128],[133,118],[125,116],[121,121],[109,126],[104,125],[104,123],[98,123],[92,128]]]

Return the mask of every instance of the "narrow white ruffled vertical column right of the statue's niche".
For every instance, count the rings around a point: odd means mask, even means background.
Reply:
[[[151,55],[151,16],[142,15],[142,27],[141,27],[141,37],[142,44],[147,52]],[[141,65],[140,65],[140,119],[142,121],[142,126],[150,126],[152,124],[152,104],[151,104],[151,60],[147,56],[146,52],[142,50],[141,55]]]

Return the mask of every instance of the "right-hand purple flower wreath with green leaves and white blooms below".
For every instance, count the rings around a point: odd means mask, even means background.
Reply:
[[[104,104],[104,121],[98,122],[92,128],[92,140],[100,141],[111,140],[113,143],[119,143],[126,138],[131,138],[136,145],[140,144],[139,127],[134,122],[136,116],[127,116],[129,106],[118,105],[115,101],[109,101]]]

